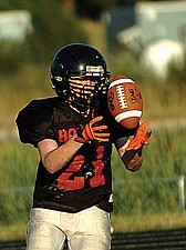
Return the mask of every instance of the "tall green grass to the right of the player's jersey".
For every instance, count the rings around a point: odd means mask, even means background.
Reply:
[[[186,176],[185,140],[185,129],[154,131],[149,146],[144,150],[143,167],[134,173],[122,171],[121,160],[114,153],[112,163],[116,214],[182,211],[177,178]]]

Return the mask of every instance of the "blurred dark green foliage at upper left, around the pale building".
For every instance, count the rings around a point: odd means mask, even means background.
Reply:
[[[17,51],[13,56],[17,62],[14,66],[18,69],[23,61],[51,62],[53,54],[66,43],[89,42],[87,34],[83,30],[78,16],[72,10],[66,9],[61,0],[0,1],[0,10],[17,9],[27,9],[31,12],[33,31],[20,46],[12,42],[8,46],[9,41],[6,41],[6,43],[3,41],[1,44],[0,41],[1,51],[6,51],[0,56],[1,71],[3,71],[4,60],[6,63],[11,61],[12,51]]]

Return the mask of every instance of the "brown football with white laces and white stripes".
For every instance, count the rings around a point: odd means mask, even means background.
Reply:
[[[107,104],[114,119],[127,129],[134,129],[143,113],[143,98],[138,86],[124,74],[110,83]]]

